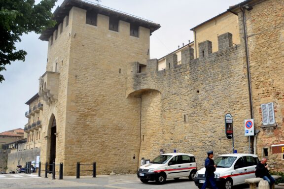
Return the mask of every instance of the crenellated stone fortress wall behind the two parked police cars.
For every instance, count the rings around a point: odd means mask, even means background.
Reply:
[[[233,46],[232,34],[218,36],[219,51],[212,53],[211,41],[199,44],[194,59],[193,49],[166,57],[166,69],[158,71],[157,60],[147,61],[147,71],[137,73],[139,63],[132,63],[128,77],[128,98],[142,97],[141,155],[154,158],[165,153],[191,153],[198,168],[206,152],[215,156],[232,152],[232,140],[225,136],[224,116],[231,113],[234,121],[235,149],[248,153],[244,120],[249,118],[248,82],[240,45]]]

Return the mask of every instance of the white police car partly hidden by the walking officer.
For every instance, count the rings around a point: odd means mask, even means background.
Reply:
[[[255,178],[258,158],[253,154],[225,154],[214,159],[217,165],[215,180],[218,188],[232,189],[235,185],[245,183],[245,179]],[[205,168],[200,169],[194,183],[201,189],[205,182]]]

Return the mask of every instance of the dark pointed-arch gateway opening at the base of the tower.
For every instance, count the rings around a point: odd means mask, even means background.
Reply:
[[[54,114],[52,114],[50,116],[49,119],[49,123],[48,123],[48,138],[49,141],[47,142],[47,146],[48,146],[48,163],[52,164],[53,162],[55,162],[55,158],[56,158],[56,119]],[[49,166],[49,170],[52,171],[52,166]]]

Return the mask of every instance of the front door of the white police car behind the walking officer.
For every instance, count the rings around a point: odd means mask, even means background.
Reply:
[[[245,181],[246,177],[245,169],[246,169],[245,157],[238,158],[234,165],[234,173],[232,174],[234,185],[243,183]]]

